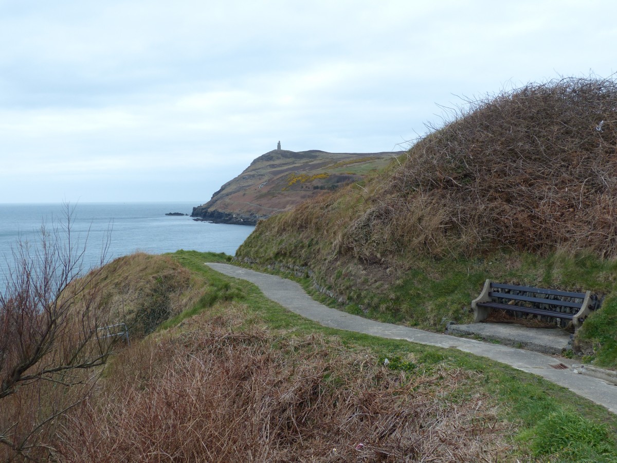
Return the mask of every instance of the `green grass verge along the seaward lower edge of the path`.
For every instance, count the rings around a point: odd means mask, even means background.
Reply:
[[[381,361],[386,357],[389,359],[389,368],[405,372],[421,373],[441,364],[474,372],[487,394],[502,404],[503,417],[520,424],[516,455],[532,454],[541,461],[585,461],[578,458],[587,453],[590,458],[595,458],[588,461],[617,461],[617,443],[611,437],[617,433],[617,417],[584,398],[574,398],[573,393],[565,388],[457,349],[435,348],[322,327],[265,298],[252,283],[225,277],[204,265],[204,262],[214,258],[217,262],[225,262],[228,260],[226,257],[192,251],[178,251],[172,257],[209,282],[213,288],[210,291],[212,298],[220,301],[241,300],[262,323],[273,330],[283,330],[286,336],[311,333],[338,336],[347,349],[371,349]],[[207,299],[197,304],[186,314],[169,320],[165,326],[171,327],[192,314],[204,311],[210,302],[212,300]],[[213,302],[213,306],[215,304]],[[582,427],[585,431],[580,435],[573,434],[572,426]],[[590,437],[594,433],[597,438]]]

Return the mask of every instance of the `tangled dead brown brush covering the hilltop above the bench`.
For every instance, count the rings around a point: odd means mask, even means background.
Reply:
[[[565,78],[488,96],[418,141],[346,246],[368,261],[511,248],[617,256],[617,82]]]

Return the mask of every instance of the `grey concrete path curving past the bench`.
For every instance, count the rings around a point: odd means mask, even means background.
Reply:
[[[326,307],[310,298],[304,292],[302,286],[291,280],[286,280],[276,275],[243,269],[235,265],[206,265],[230,277],[242,278],[254,283],[267,298],[278,302],[281,306],[296,314],[326,327],[355,331],[382,338],[407,340],[413,343],[428,344],[429,346],[455,348],[477,356],[487,357],[491,360],[510,365],[518,370],[539,375],[550,382],[568,388],[592,402],[607,407],[609,411],[617,414],[617,386],[598,378],[577,374],[573,369],[558,370],[550,366],[560,363],[569,366],[573,362],[569,362],[567,359],[555,359],[539,352],[425,332],[415,328],[392,325],[391,323],[376,322],[375,320],[365,319]],[[576,398],[573,397],[573,400],[576,400]]]

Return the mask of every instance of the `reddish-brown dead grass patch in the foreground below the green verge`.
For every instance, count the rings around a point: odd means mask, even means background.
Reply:
[[[388,370],[336,340],[240,330],[238,304],[224,313],[123,352],[65,422],[57,458],[460,462],[508,449],[511,428],[473,373]]]

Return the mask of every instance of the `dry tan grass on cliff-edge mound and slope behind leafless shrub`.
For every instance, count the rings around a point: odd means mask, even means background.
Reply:
[[[108,341],[114,341],[107,338],[97,340],[96,335],[91,334],[93,330],[96,333],[96,327],[126,322],[131,340],[138,341],[163,320],[193,307],[204,293],[205,286],[204,278],[191,274],[170,257],[137,253],[116,259],[68,285],[60,301],[71,301],[71,298],[75,301],[70,311],[57,321],[62,329],[57,330],[56,342],[25,373],[66,365],[71,359],[75,362],[81,357],[96,359],[106,352]],[[88,310],[93,304],[101,304],[101,310]],[[5,362],[19,349],[31,344],[30,338],[23,333],[11,332],[11,336],[14,339],[5,336],[9,343],[9,348],[4,349]],[[116,348],[122,349],[124,344],[120,344]],[[79,346],[77,351],[75,346]],[[40,377],[34,374],[14,394],[3,398],[0,401],[0,430],[6,441],[0,445],[0,461],[16,457],[16,453],[5,445],[9,444],[8,441],[14,448],[23,448],[23,457],[45,459],[55,445],[63,411],[88,400],[100,373],[100,368],[94,368]]]

